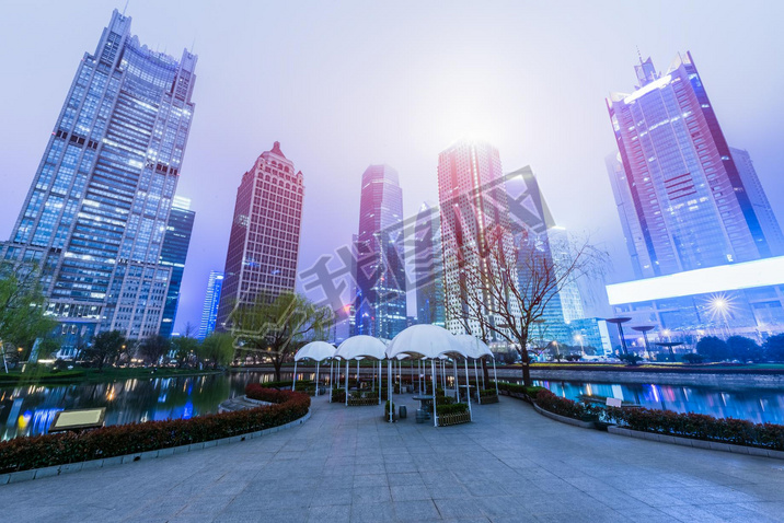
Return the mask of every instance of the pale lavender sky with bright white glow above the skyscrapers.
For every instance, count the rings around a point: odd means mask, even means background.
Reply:
[[[0,3],[0,239],[79,60],[124,7]],[[142,44],[198,55],[177,188],[196,222],[175,330],[198,324],[240,178],[276,140],[304,175],[300,270],[357,232],[369,164],[400,173],[413,216],[438,200],[438,153],[474,136],[505,172],[532,166],[557,224],[611,254],[609,282],[631,279],[604,98],[633,90],[637,48],[659,70],[692,53],[728,142],[750,152],[784,219],[784,2],[130,0],[126,14]]]

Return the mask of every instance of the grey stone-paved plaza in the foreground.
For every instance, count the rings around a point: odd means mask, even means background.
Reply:
[[[784,521],[784,462],[579,429],[523,402],[416,425],[315,398],[269,437],[0,487],[3,521]]]

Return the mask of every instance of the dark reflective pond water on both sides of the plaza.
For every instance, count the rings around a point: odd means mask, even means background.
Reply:
[[[299,374],[299,379],[313,379]],[[290,380],[291,373],[284,374]],[[191,418],[216,412],[224,399],[241,395],[251,382],[269,382],[269,372],[235,372],[206,376],[152,377],[76,385],[24,385],[0,388],[0,438],[46,433],[55,412],[106,407],[106,425]],[[581,394],[607,396],[648,408],[692,411],[754,422],[784,423],[784,391],[718,390],[672,385],[613,385],[538,381],[572,399]]]

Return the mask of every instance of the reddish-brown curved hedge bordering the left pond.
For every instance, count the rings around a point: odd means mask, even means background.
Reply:
[[[113,425],[82,432],[59,432],[0,442],[0,474],[67,463],[137,454],[255,432],[295,421],[310,408],[307,394],[249,385],[258,399],[277,405],[191,419]],[[249,394],[250,396],[250,394]],[[263,397],[262,397],[263,396]]]

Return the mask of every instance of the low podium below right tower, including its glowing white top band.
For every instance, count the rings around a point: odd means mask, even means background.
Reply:
[[[655,325],[659,338],[784,332],[784,256],[615,283],[607,291],[615,314],[631,317],[630,326]]]

